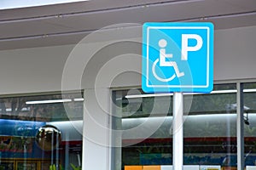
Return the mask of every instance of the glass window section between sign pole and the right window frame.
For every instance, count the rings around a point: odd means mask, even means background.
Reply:
[[[194,94],[184,122],[184,164],[234,169],[236,152],[236,84]]]

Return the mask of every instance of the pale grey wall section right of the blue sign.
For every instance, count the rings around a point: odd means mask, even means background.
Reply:
[[[256,26],[216,31],[214,79],[256,77]]]

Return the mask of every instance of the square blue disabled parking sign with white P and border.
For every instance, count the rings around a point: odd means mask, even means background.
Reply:
[[[143,25],[143,91],[202,92],[213,87],[213,25]]]

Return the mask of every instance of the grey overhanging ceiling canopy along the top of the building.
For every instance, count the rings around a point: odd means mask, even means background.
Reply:
[[[0,0],[0,8],[15,1],[54,0]],[[215,30],[256,26],[256,0],[56,1],[63,3],[0,9],[0,50],[76,44],[91,32],[125,23],[207,21]]]

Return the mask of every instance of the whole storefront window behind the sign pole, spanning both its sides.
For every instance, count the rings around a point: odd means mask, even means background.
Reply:
[[[122,131],[113,135],[113,169],[172,165],[172,94],[118,90],[113,99],[113,130]],[[183,99],[184,165],[236,167],[236,84]]]

